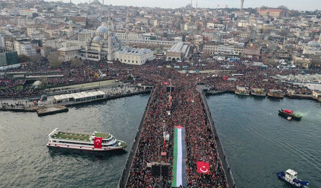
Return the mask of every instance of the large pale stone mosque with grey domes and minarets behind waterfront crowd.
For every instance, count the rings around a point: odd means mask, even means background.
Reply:
[[[151,50],[128,46],[128,17],[126,19],[127,44],[125,46],[113,36],[111,30],[109,17],[108,27],[103,23],[83,44],[69,45],[69,47],[58,49],[60,59],[63,61],[69,61],[75,57],[91,61],[105,59],[132,65],[142,65],[147,60],[152,60],[153,52]]]

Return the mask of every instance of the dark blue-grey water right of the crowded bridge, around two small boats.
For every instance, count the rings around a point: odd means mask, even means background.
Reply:
[[[321,104],[223,94],[207,98],[238,188],[289,187],[274,172],[296,170],[308,187],[321,187]],[[303,115],[278,116],[279,108]]]

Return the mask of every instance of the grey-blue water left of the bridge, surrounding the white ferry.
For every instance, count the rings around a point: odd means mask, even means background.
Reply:
[[[127,152],[48,148],[48,134],[108,131],[131,148],[148,95],[76,106],[67,113],[0,112],[0,187],[116,187]]]

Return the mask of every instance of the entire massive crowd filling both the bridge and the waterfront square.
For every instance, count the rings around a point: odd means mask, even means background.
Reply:
[[[187,66],[188,65],[188,66]],[[169,67],[171,66],[171,67]],[[174,69],[174,66],[180,66]],[[202,74],[179,73],[178,70],[216,70]],[[177,125],[186,130],[186,177],[187,187],[228,187],[222,162],[217,151],[215,137],[211,125],[207,120],[197,84],[203,84],[210,90],[235,91],[237,86],[251,88],[278,89],[286,92],[293,89],[298,94],[310,94],[311,90],[297,87],[292,83],[279,81],[274,75],[296,75],[303,70],[300,68],[282,70],[276,67],[253,66],[246,62],[231,62],[228,60],[200,61],[192,59],[190,62],[166,62],[155,59],[142,66],[86,61],[83,65],[72,66],[63,63],[58,67],[50,67],[47,59],[39,64],[28,64],[19,68],[2,70],[0,75],[0,98],[28,98],[46,93],[45,88],[32,89],[25,83],[29,78],[15,78],[17,72],[24,75],[63,75],[61,77],[47,77],[47,87],[80,84],[99,80],[117,79],[131,84],[153,86],[154,90],[149,107],[144,117],[141,137],[135,152],[127,187],[154,187],[163,184],[171,186],[173,179],[173,135]],[[13,73],[14,72],[14,73]],[[320,69],[304,70],[306,74],[320,73]],[[243,74],[233,76],[233,74]],[[99,76],[97,76],[99,75]],[[104,76],[102,76],[104,75]],[[229,79],[233,78],[233,79]],[[173,85],[172,92],[167,87]],[[125,90],[124,90],[125,91]],[[169,106],[169,99],[171,104]],[[168,111],[171,111],[169,114]],[[163,142],[163,126],[170,135],[170,141]],[[166,152],[166,157],[161,157]],[[171,164],[168,177],[155,177],[151,174],[147,163],[164,161]],[[210,173],[198,173],[197,161],[210,163]]]

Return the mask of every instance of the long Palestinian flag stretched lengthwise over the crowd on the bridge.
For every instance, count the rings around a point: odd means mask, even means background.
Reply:
[[[186,144],[185,128],[176,126],[174,129],[174,166],[172,186],[187,186],[186,177]]]

